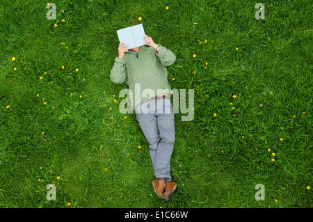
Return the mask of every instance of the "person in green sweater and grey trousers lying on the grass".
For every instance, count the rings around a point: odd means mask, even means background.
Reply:
[[[128,49],[128,45],[120,43],[110,78],[116,84],[125,82],[129,86],[132,109],[150,144],[154,192],[159,198],[169,200],[177,184],[170,175],[175,124],[166,67],[175,62],[176,56],[166,47],[155,44],[151,37],[143,38],[149,47]],[[136,90],[141,95],[137,99],[132,96]]]

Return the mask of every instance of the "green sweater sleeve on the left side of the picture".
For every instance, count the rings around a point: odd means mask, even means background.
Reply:
[[[127,81],[126,65],[123,58],[115,58],[110,74],[110,79],[115,84],[122,84]]]

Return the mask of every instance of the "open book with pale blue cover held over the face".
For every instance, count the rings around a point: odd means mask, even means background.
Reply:
[[[120,29],[117,33],[120,43],[125,43],[128,45],[129,49],[145,45],[145,39],[143,38],[145,35],[143,24]]]

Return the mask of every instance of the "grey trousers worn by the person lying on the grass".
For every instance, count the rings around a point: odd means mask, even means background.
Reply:
[[[136,107],[136,118],[150,147],[154,175],[172,180],[170,158],[175,142],[175,124],[169,99],[143,102]]]

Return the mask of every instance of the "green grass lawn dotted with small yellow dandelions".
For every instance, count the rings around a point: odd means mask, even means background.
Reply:
[[[313,207],[312,5],[264,0],[263,21],[257,2],[55,1],[48,20],[45,2],[1,1],[0,207]],[[175,114],[169,201],[109,78],[116,30],[139,23],[176,54],[171,87],[195,90],[194,119]]]

